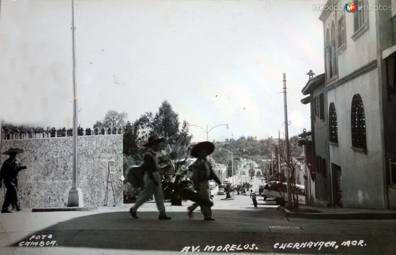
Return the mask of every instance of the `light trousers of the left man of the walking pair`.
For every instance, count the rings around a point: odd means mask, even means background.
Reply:
[[[158,186],[154,185],[154,182],[150,180],[150,177],[148,177],[148,173],[145,172],[145,175],[143,176],[143,190],[141,191],[138,199],[136,200],[135,205],[132,206],[132,210],[137,211],[138,208],[151,197],[151,195],[154,195],[159,215],[165,215],[164,193],[162,191],[161,174],[158,171],[155,171],[152,173],[152,175],[157,181]]]

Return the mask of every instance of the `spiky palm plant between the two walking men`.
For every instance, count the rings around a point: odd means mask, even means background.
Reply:
[[[167,166],[163,169],[163,190],[165,200],[171,201],[171,205],[182,205],[186,202],[180,195],[184,188],[193,188],[193,182],[187,174],[187,159],[189,152],[186,147],[173,144],[168,145],[167,152],[170,154]]]

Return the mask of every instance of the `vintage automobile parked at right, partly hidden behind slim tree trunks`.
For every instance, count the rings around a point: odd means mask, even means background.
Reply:
[[[264,189],[263,191],[263,196],[264,199],[270,198],[270,199],[275,199],[276,204],[284,204],[286,201],[288,201],[288,194],[287,194],[287,187],[286,183],[281,184],[281,186],[278,186],[278,190],[274,190],[272,187],[275,184],[279,184],[277,182],[270,182],[268,183],[268,186],[266,187],[267,189]],[[271,189],[272,188],[272,189]],[[297,198],[298,198],[298,204],[305,204],[305,187],[304,185],[298,185],[296,184],[296,191],[297,191]]]

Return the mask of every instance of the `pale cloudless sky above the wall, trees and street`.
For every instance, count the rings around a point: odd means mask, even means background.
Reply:
[[[324,0],[75,0],[78,123],[133,122],[164,100],[210,141],[310,130],[306,73],[324,72]],[[0,118],[71,128],[71,0],[1,0]],[[190,126],[193,141],[206,133]]]

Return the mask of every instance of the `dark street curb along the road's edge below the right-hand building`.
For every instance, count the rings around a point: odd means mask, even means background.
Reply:
[[[279,207],[286,217],[304,218],[304,219],[396,219],[396,213],[303,213],[291,212],[290,210]]]

